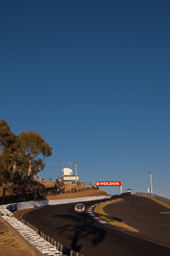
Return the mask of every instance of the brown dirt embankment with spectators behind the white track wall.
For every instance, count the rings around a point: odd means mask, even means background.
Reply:
[[[0,187],[0,200],[2,199],[3,188]],[[60,185],[53,181],[38,181],[36,184],[36,193],[34,185],[27,186],[25,193],[22,194],[22,187],[16,186],[6,193],[6,203],[28,201],[28,200],[53,200],[64,198],[86,198],[104,196],[107,193],[102,190],[84,185]]]

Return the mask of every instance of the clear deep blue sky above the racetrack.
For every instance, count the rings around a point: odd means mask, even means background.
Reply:
[[[1,1],[0,119],[53,147],[41,173],[170,198],[170,1]],[[109,193],[119,188],[103,187]]]

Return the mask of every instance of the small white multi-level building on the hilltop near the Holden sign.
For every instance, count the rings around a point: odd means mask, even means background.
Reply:
[[[63,182],[66,184],[72,184],[74,185],[76,183],[76,185],[84,185],[84,181],[83,180],[79,180],[79,177],[75,175],[73,175],[73,170],[70,168],[63,168],[62,169],[62,173],[63,173]],[[75,182],[76,180],[76,182]]]

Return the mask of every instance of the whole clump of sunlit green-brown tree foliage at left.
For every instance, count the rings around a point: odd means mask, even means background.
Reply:
[[[45,158],[52,148],[36,130],[15,135],[5,120],[0,121],[0,184],[3,202],[6,190],[13,183],[24,184],[45,167]]]

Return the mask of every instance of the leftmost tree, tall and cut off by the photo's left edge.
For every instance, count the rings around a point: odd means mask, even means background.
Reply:
[[[11,131],[5,120],[0,122],[0,183],[3,186],[3,198],[5,201],[6,191],[13,182],[13,177],[18,170],[20,160],[20,142],[18,137]]]

